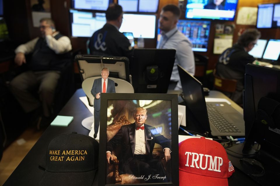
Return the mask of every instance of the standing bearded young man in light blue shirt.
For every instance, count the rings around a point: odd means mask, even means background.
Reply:
[[[160,30],[162,37],[157,43],[157,49],[175,49],[176,58],[170,78],[169,90],[182,90],[177,64],[181,65],[190,74],[195,74],[195,59],[192,52],[192,43],[177,29],[180,9],[176,5],[166,5],[160,12]]]

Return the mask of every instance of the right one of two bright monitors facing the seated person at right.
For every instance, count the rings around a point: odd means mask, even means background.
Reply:
[[[268,60],[278,60],[280,55],[280,40],[270,39],[265,48],[262,58]]]

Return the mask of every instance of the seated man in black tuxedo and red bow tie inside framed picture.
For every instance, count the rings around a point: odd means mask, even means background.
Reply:
[[[130,174],[143,179],[147,183],[167,182],[161,160],[152,156],[155,143],[162,146],[164,161],[171,160],[170,140],[157,132],[156,128],[145,123],[147,110],[142,107],[134,109],[134,123],[123,125],[116,135],[107,142],[106,158],[108,163],[113,160],[112,151],[121,146],[118,155],[120,174]],[[153,179],[153,176],[166,179]]]

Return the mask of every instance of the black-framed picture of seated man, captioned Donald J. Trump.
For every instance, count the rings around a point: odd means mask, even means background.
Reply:
[[[178,95],[101,93],[98,185],[179,185]]]

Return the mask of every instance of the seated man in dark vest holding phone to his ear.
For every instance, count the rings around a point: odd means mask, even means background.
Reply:
[[[10,90],[26,113],[42,110],[42,116],[48,118],[60,71],[70,61],[68,52],[72,46],[68,37],[56,31],[52,19],[41,19],[39,28],[41,37],[15,49],[15,63],[18,66],[26,63],[28,71],[11,81]],[[31,60],[26,61],[25,54],[29,53]],[[38,95],[34,95],[34,90]]]

